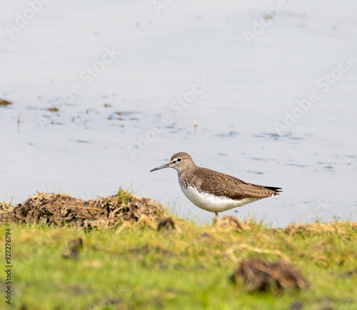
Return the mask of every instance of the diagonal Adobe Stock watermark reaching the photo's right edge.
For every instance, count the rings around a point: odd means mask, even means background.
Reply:
[[[291,111],[285,111],[283,121],[276,121],[274,123],[276,133],[279,136],[288,133],[289,128],[295,125],[298,119],[301,119],[311,109],[312,104],[321,99],[321,93],[327,93],[331,89],[331,86],[335,85],[342,78],[344,72],[351,70],[356,61],[357,58],[353,58],[352,53],[348,53],[348,55],[342,54],[338,66],[316,80],[318,90],[310,91],[303,99],[296,99],[296,106]]]

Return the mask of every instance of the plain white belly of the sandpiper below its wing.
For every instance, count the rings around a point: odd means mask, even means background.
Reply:
[[[233,200],[224,196],[214,196],[212,194],[206,194],[199,192],[196,187],[188,186],[185,189],[180,182],[183,194],[198,208],[211,212],[222,212],[227,211],[237,206],[244,206],[245,204],[250,204],[258,199],[254,198],[243,198],[241,200]]]

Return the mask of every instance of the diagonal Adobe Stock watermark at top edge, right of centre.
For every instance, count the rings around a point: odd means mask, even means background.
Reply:
[[[261,16],[261,19],[253,19],[251,31],[244,29],[242,31],[244,39],[246,39],[246,43],[251,45],[251,40],[258,39],[258,36],[263,34],[263,32],[271,26],[274,20],[278,18],[281,11],[288,9],[288,4],[285,0],[278,0],[275,6],[271,6],[270,8],[265,8],[266,11],[265,16]]]

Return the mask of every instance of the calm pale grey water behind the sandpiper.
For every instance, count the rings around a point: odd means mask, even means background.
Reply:
[[[271,19],[273,5],[180,1],[158,14],[146,1],[61,1],[19,27],[28,4],[6,4],[1,23],[19,30],[0,30],[0,98],[13,102],[0,106],[0,201],[124,186],[210,221],[174,169],[149,173],[186,151],[283,188],[223,215],[356,220],[357,4],[291,2]]]

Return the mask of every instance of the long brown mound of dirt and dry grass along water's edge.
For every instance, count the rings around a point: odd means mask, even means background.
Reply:
[[[161,204],[146,197],[134,196],[122,189],[117,195],[89,201],[76,199],[69,194],[37,192],[23,204],[0,210],[0,223],[114,227],[125,221],[136,222],[144,216],[158,223],[167,217]]]

